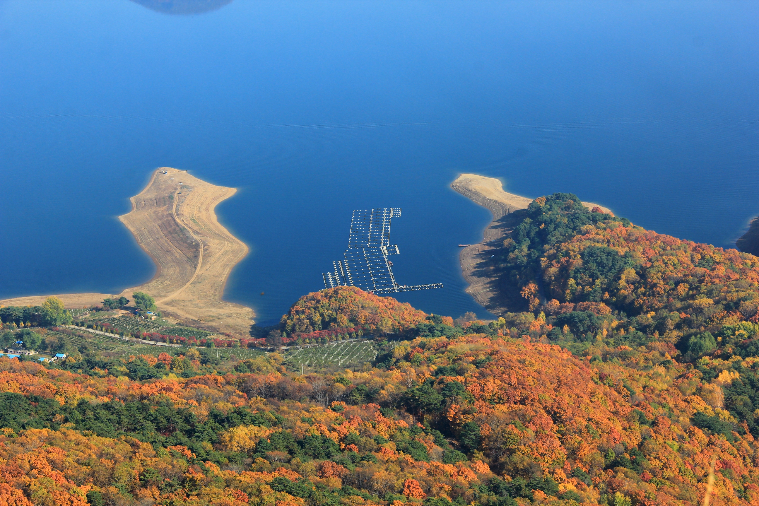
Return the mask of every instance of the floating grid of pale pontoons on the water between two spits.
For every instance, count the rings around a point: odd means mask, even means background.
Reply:
[[[401,253],[398,245],[390,244],[390,219],[400,215],[401,209],[394,207],[354,211],[345,259],[332,262],[334,272],[322,275],[325,288],[354,286],[377,295],[442,288],[442,283],[407,285],[395,282],[392,262],[387,257]]]

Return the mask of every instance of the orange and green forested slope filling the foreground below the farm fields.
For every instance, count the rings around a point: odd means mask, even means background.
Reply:
[[[499,333],[327,375],[132,381],[0,359],[0,500],[698,504],[713,458],[712,504],[759,499],[759,448],[713,398],[737,373],[705,382],[658,342],[598,360]]]

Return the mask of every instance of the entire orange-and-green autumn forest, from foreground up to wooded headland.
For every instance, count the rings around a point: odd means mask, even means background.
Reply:
[[[0,357],[0,504],[679,505],[710,474],[710,504],[759,504],[759,258],[569,193],[510,219],[493,321],[332,288],[231,355],[118,356],[0,308],[6,344],[69,355]],[[350,339],[375,359],[239,351]]]

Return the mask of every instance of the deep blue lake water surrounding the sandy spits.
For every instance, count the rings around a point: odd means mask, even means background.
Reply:
[[[391,206],[396,279],[446,285],[398,299],[485,316],[462,171],[720,246],[759,213],[757,2],[224,3],[0,0],[0,298],[149,279],[116,217],[162,165],[239,188],[226,298],[263,324]]]

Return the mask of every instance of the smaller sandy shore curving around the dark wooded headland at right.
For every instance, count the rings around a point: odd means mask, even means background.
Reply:
[[[461,250],[459,262],[461,272],[469,283],[467,293],[483,307],[495,314],[509,310],[511,296],[499,290],[495,266],[490,262],[493,252],[490,250],[502,246],[502,239],[512,231],[518,217],[511,218],[511,213],[527,209],[532,199],[508,193],[503,190],[501,181],[486,178],[479,174],[461,174],[451,183],[453,190],[473,200],[493,213],[493,221],[485,228],[480,244],[473,244]],[[600,207],[603,212],[611,212],[598,204],[583,202],[588,209]],[[518,294],[517,294],[518,295]]]

